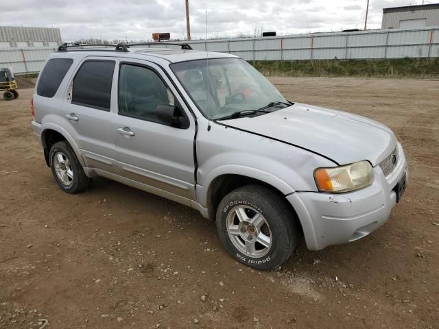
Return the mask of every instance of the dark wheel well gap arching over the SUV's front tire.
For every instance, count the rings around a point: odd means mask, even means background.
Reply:
[[[300,225],[300,221],[298,220],[296,210],[294,210],[293,206],[287,202],[287,199],[285,199],[285,195],[279,191],[274,186],[267,184],[265,182],[262,182],[261,180],[257,180],[255,178],[251,178],[244,175],[234,175],[234,174],[227,174],[227,175],[220,175],[219,177],[215,178],[213,182],[211,183],[211,186],[209,186],[209,191],[207,195],[207,209],[209,212],[209,219],[215,221],[217,208],[219,205],[219,202],[231,191],[245,185],[260,185],[264,186],[266,188],[270,188],[270,190],[274,191],[279,197],[285,200],[285,204],[287,207],[291,210],[294,221],[296,222],[296,225],[300,230],[302,229],[302,226]]]

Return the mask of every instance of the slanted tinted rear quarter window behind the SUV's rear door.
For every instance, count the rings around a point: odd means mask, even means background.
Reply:
[[[71,58],[53,58],[49,60],[44,66],[43,72],[41,72],[36,93],[43,97],[54,97],[72,63]]]

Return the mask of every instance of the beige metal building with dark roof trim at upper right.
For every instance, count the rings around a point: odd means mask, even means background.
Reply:
[[[384,8],[381,29],[419,29],[439,26],[439,3]]]

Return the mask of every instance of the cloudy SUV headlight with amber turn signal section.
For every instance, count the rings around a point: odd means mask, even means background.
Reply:
[[[373,169],[368,161],[360,161],[341,167],[319,168],[314,171],[314,179],[321,192],[354,191],[372,184]]]

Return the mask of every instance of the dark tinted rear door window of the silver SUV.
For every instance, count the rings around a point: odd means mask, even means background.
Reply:
[[[113,71],[115,62],[84,62],[73,80],[71,102],[109,111]]]

